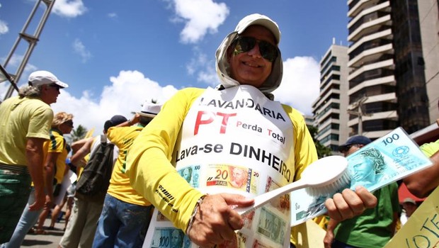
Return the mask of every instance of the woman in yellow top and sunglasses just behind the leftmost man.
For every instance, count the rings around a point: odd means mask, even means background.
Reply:
[[[52,120],[52,128],[50,130],[50,140],[43,144],[44,162],[44,179],[46,203],[44,210],[49,210],[53,204],[54,185],[61,183],[66,168],[65,160],[68,150],[67,143],[63,135],[72,132],[73,115],[65,112],[59,112]],[[29,210],[29,206],[35,202],[35,189],[33,187],[28,198],[28,205],[23,210],[21,218],[13,232],[11,239],[7,243],[1,245],[2,248],[20,247],[25,235],[38,221],[38,217],[43,212],[40,210]],[[35,234],[45,234],[42,229],[34,230]]]

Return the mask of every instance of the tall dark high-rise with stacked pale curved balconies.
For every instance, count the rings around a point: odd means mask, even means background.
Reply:
[[[417,0],[348,0],[350,136],[429,125]]]

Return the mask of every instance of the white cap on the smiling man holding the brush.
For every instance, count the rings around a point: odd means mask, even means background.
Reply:
[[[242,20],[239,21],[238,25],[236,26],[235,31],[238,32],[238,34],[241,34],[244,32],[244,30],[246,30],[246,28],[252,25],[261,25],[268,28],[268,30],[270,30],[275,36],[276,45],[279,44],[280,30],[278,23],[275,23],[275,21],[268,18],[268,16],[261,15],[260,13],[253,13],[242,18]]]

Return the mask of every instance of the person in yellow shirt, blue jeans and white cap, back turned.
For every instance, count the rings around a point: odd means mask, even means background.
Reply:
[[[130,185],[130,178],[125,174],[127,150],[140,131],[159,113],[160,108],[161,105],[146,101],[132,120],[108,129],[108,140],[118,146],[119,154],[111,174],[93,247],[142,247],[153,206]]]

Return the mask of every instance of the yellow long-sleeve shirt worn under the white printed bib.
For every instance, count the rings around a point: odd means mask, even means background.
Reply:
[[[203,193],[178,174],[173,150],[180,142],[179,133],[188,111],[204,91],[195,88],[178,91],[142,130],[127,154],[127,174],[133,188],[181,230],[186,230],[195,203]],[[294,147],[290,154],[295,159],[294,164],[287,167],[294,171],[292,178],[297,181],[304,168],[317,159],[317,151],[302,115],[289,106],[283,105],[283,110],[294,129],[291,137]]]

